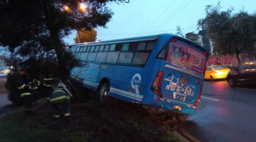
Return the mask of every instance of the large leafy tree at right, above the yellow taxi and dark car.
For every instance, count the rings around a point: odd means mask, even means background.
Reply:
[[[215,54],[236,54],[241,64],[239,54],[256,49],[256,15],[243,10],[233,14],[233,9],[220,9],[220,3],[207,5],[206,17],[198,21],[198,28],[208,29],[207,37],[213,42]]]

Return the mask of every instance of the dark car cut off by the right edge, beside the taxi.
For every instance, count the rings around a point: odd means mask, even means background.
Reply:
[[[227,74],[227,82],[231,87],[238,84],[255,84],[256,62],[246,62]]]

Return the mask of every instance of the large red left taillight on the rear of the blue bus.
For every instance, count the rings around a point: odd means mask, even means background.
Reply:
[[[158,72],[151,86],[151,90],[160,97],[162,97],[162,93],[161,93],[162,79],[163,79],[163,72]]]

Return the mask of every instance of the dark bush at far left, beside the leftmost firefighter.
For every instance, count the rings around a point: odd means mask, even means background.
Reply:
[[[16,72],[14,74],[8,74],[7,75],[7,81],[4,85],[4,87],[9,91],[8,99],[12,102],[14,105],[22,105],[23,101],[20,97],[20,93],[18,90],[19,87],[19,73]]]

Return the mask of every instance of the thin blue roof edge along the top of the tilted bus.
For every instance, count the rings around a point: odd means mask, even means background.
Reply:
[[[183,40],[183,41],[186,41],[186,42],[189,42],[191,45],[193,46],[197,46],[201,49],[203,49],[204,51],[207,51],[209,52],[208,49],[204,48],[203,46],[195,43],[194,41],[192,40],[189,40],[187,38],[184,38],[184,37],[180,37],[180,36],[176,36],[176,35],[173,35],[173,34],[169,34],[169,33],[162,33],[162,34],[158,34],[158,35],[150,35],[150,36],[140,36],[140,37],[129,37],[129,38],[121,38],[121,39],[116,39],[116,40],[106,40],[106,41],[94,41],[94,42],[84,42],[84,43],[78,43],[78,44],[74,44],[74,45],[90,45],[90,44],[100,44],[100,43],[107,43],[107,42],[115,42],[115,41],[125,41],[125,40],[136,40],[136,39],[143,39],[143,38],[155,38],[156,36],[169,36],[169,37],[177,37],[178,39],[180,40]]]

